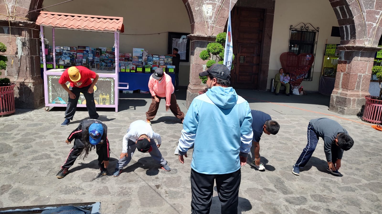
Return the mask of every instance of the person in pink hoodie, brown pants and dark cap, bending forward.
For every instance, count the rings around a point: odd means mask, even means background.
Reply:
[[[162,98],[166,100],[166,112],[170,109],[175,117],[180,119],[183,123],[185,113],[180,110],[179,105],[176,103],[171,77],[166,72],[163,72],[163,68],[155,69],[154,73],[150,76],[149,89],[151,93],[151,105],[146,112],[146,123],[151,124],[151,120],[154,119],[157,114],[160,99]]]

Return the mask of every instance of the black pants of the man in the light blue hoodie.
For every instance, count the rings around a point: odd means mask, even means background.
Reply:
[[[241,181],[240,169],[220,175],[201,174],[191,169],[191,212],[193,214],[210,213],[214,180],[216,180],[217,192],[222,204],[222,213],[237,214]]]

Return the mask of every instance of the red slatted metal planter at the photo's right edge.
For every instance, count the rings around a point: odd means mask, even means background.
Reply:
[[[365,96],[366,104],[362,119],[369,123],[382,123],[382,101],[378,97]]]

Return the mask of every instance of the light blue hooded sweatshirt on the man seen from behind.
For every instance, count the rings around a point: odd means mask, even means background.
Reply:
[[[240,169],[240,156],[252,145],[248,102],[232,87],[213,86],[194,98],[183,122],[178,150],[194,145],[191,168],[202,174],[228,174]]]

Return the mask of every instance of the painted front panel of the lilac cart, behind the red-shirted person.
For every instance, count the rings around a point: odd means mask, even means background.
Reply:
[[[68,102],[68,92],[58,83],[60,76],[47,75],[48,79],[48,103],[66,104]],[[70,83],[66,86],[69,88]],[[94,86],[94,102],[96,105],[114,105],[114,78],[99,77]],[[81,93],[77,104],[86,104],[86,99]]]

